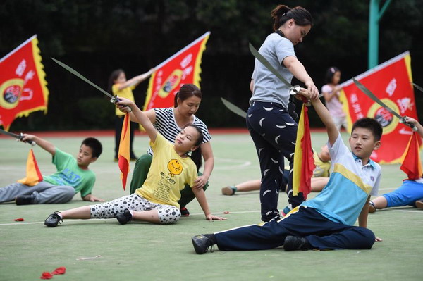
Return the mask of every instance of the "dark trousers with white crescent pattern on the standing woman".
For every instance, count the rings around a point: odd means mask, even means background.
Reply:
[[[298,125],[281,104],[255,101],[247,112],[247,128],[255,143],[262,172],[260,203],[262,220],[279,216],[278,190],[283,184],[284,158],[290,166],[288,178],[288,203],[296,207],[304,201],[300,192],[292,195],[293,159]]]

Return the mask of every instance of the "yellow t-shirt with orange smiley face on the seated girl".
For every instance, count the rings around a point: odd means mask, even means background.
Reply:
[[[192,187],[197,180],[197,167],[190,157],[176,154],[173,144],[157,134],[156,141],[150,142],[154,151],[144,185],[135,191],[142,197],[158,204],[179,208],[180,190],[185,184]]]

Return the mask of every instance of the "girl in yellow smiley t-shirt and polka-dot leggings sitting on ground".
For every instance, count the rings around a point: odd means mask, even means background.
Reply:
[[[131,220],[159,224],[172,224],[179,220],[180,190],[185,184],[194,186],[202,163],[201,130],[195,125],[187,125],[178,134],[174,144],[171,144],[154,129],[147,115],[133,101],[122,98],[117,104],[122,111],[133,111],[139,123],[145,128],[154,151],[152,165],[142,188],[133,194],[104,204],[52,213],[44,225],[56,227],[63,218],[117,218],[122,225],[130,223]],[[188,156],[188,152],[191,151],[191,156]],[[207,220],[225,220],[210,213],[203,189],[192,189],[192,192]]]

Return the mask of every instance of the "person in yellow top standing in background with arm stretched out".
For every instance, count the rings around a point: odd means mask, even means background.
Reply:
[[[149,75],[152,75],[154,69],[150,69],[147,73],[137,75],[130,80],[126,80],[125,72],[121,69],[114,70],[109,77],[109,93],[113,96],[123,97],[125,99],[130,99],[130,101],[135,101],[132,90],[140,84],[140,82],[146,80]],[[114,160],[118,161],[118,152],[119,152],[119,143],[121,142],[121,132],[123,125],[123,116],[125,113],[116,108],[116,121],[115,121],[115,157]],[[130,148],[129,156],[131,161],[137,160],[133,151],[133,139],[134,131],[137,128],[137,123],[130,124]]]

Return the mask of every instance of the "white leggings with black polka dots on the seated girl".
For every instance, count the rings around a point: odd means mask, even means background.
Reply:
[[[175,206],[153,203],[135,193],[106,203],[91,205],[90,208],[91,218],[114,218],[116,213],[123,213],[125,208],[133,211],[156,209],[162,225],[176,223],[180,218],[180,211]]]

